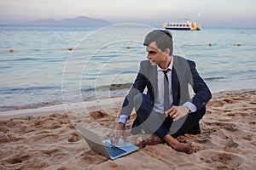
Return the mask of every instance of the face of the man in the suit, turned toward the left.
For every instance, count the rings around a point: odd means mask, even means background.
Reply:
[[[151,65],[160,65],[166,61],[166,56],[160,48],[157,48],[155,42],[151,42],[146,50],[148,52],[147,59],[149,59]]]

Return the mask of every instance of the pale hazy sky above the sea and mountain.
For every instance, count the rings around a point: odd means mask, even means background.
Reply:
[[[0,0],[0,25],[77,16],[162,26],[187,18],[204,27],[256,28],[255,0]]]

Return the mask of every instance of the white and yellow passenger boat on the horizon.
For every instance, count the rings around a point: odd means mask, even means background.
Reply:
[[[163,27],[166,28],[166,30],[188,30],[188,31],[200,31],[201,26],[197,26],[195,22],[186,20],[186,21],[177,21],[177,22],[170,22],[166,24],[166,22],[163,24]]]

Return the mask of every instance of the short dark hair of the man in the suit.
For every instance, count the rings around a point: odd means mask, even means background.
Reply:
[[[151,42],[155,42],[156,46],[160,48],[162,52],[166,50],[166,48],[170,49],[170,55],[173,52],[173,41],[172,34],[170,31],[166,30],[154,30],[148,33],[145,37],[144,45],[148,46]]]

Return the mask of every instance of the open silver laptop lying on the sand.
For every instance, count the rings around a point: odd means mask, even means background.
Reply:
[[[108,157],[108,159],[114,160],[121,156],[128,155],[133,151],[139,150],[137,145],[125,142],[123,139],[119,139],[119,144],[113,145],[111,144],[110,139],[102,141],[98,134],[92,132],[86,127],[82,127],[80,125],[75,125],[75,127],[79,129],[79,132],[82,134],[91,150],[95,150],[102,156]]]

